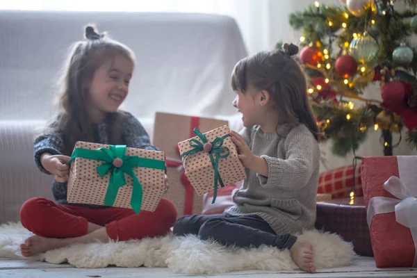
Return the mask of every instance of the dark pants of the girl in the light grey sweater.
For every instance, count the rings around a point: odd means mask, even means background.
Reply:
[[[274,246],[290,249],[296,236],[277,235],[270,225],[258,215],[234,216],[227,213],[217,215],[186,215],[174,224],[174,235],[195,234],[202,240],[209,238],[221,245],[236,247]]]

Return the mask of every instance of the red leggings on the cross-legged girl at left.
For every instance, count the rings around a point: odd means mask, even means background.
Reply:
[[[84,236],[91,222],[106,227],[112,240],[140,239],[167,233],[176,219],[177,209],[169,199],[161,199],[155,211],[139,214],[131,208],[60,205],[45,198],[28,199],[20,209],[22,225],[46,238]]]

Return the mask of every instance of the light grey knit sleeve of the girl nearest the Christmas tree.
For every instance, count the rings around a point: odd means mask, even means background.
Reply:
[[[286,159],[263,155],[268,164],[268,177],[258,175],[265,187],[299,190],[308,183],[318,167],[320,150],[318,142],[306,126],[297,126],[285,140]]]

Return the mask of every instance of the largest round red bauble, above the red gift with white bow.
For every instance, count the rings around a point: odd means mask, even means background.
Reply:
[[[406,102],[406,88],[401,81],[390,81],[381,88],[384,104],[393,108],[404,108]]]

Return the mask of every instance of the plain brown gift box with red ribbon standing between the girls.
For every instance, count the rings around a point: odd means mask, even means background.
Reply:
[[[226,124],[227,121],[210,117],[156,113],[152,143],[166,154],[170,190],[165,197],[174,202],[178,217],[200,214],[203,207],[203,197],[197,195],[182,169],[178,142],[195,136],[193,129],[196,127],[206,132]]]

